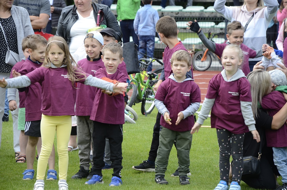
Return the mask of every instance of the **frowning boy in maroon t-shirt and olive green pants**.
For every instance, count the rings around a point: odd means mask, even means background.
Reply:
[[[171,74],[163,81],[156,92],[155,106],[161,114],[160,144],[155,162],[155,181],[168,184],[164,179],[168,157],[174,141],[179,163],[179,183],[188,185],[189,152],[192,143],[190,130],[194,124],[193,114],[198,110],[201,97],[200,89],[186,73],[191,69],[192,58],[185,50],[173,53],[171,57]]]

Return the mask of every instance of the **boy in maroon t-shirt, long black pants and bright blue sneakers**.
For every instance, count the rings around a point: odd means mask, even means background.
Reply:
[[[98,69],[96,77],[114,83],[127,81],[126,76],[118,69],[119,64],[124,60],[120,44],[105,45],[102,50],[102,60],[105,68]],[[85,184],[103,183],[105,138],[108,138],[111,150],[111,168],[114,169],[109,186],[119,186],[122,184],[121,169],[123,168],[121,165],[123,159],[121,143],[123,141],[124,96],[97,88],[90,119],[94,121],[93,142],[96,145],[93,148],[94,166],[92,171],[94,175]]]

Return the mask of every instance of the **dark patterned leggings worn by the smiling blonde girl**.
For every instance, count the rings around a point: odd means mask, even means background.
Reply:
[[[230,153],[232,154],[232,181],[240,184],[243,171],[243,140],[245,134],[233,134],[226,129],[216,129],[219,145],[220,180],[228,184]]]

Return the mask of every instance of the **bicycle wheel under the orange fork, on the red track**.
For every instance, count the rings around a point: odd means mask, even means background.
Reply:
[[[193,67],[198,71],[205,71],[211,66],[211,56],[206,53],[206,59],[201,61],[204,51],[198,51],[192,58]]]

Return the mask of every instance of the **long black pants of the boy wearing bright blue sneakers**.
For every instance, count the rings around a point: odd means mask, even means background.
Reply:
[[[121,178],[122,150],[121,143],[123,142],[123,125],[122,124],[105,124],[95,121],[93,131],[93,174],[102,176],[102,168],[105,166],[105,138],[109,139],[111,150],[111,168],[114,169],[112,176]]]

